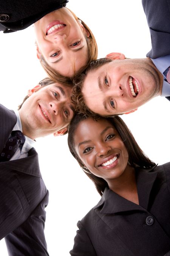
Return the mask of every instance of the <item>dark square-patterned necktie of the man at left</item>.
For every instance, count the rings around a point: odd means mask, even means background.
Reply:
[[[0,162],[5,162],[11,159],[20,146],[23,146],[25,136],[19,130],[11,132],[11,137],[6,141],[5,147],[0,154]]]

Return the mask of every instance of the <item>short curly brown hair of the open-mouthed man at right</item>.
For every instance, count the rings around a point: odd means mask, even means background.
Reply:
[[[77,75],[73,80],[73,90],[71,94],[71,99],[74,104],[76,104],[76,111],[78,113],[84,113],[85,115],[94,117],[96,116],[96,113],[90,110],[85,104],[84,95],[82,93],[83,83],[85,80],[86,75],[104,64],[110,63],[112,60],[108,58],[101,58],[98,60],[91,61],[90,65],[86,69],[85,73],[82,73],[80,75]],[[92,85],[93,86],[93,85]]]

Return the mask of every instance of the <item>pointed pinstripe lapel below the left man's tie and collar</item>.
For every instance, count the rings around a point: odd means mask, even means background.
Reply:
[[[31,148],[28,152],[28,157],[24,157],[17,160],[11,160],[6,162],[0,162],[0,166],[20,171],[36,177],[42,177],[40,173],[38,154],[34,148]]]

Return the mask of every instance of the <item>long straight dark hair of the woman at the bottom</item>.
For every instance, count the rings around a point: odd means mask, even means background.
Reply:
[[[84,166],[84,164],[79,159],[79,156],[76,153],[74,135],[75,135],[75,131],[77,129],[78,124],[87,118],[90,118],[90,117],[85,116],[84,114],[77,114],[73,117],[68,127],[68,146],[71,154],[74,156],[74,158],[77,160],[80,166]],[[96,115],[95,120],[97,121],[100,118],[104,118],[104,117]],[[113,118],[104,118],[104,119],[109,121],[116,128],[117,132],[121,136],[122,141],[124,142],[125,147],[128,151],[128,155],[129,155],[128,162],[132,167],[134,168],[141,167],[144,169],[149,169],[155,166],[155,163],[152,162],[141,150],[138,143],[134,139],[131,131],[128,129],[127,125],[119,116],[114,116]],[[92,173],[85,172],[85,174],[94,182],[97,192],[99,192],[99,194],[102,195],[102,193],[105,190],[105,187],[108,187],[107,182],[104,179],[97,177]]]

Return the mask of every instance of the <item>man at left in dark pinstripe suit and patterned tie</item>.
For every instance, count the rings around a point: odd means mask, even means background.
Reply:
[[[0,239],[5,237],[10,256],[48,255],[48,190],[33,146],[38,137],[67,132],[74,115],[71,90],[45,79],[28,91],[18,112],[0,105]]]

